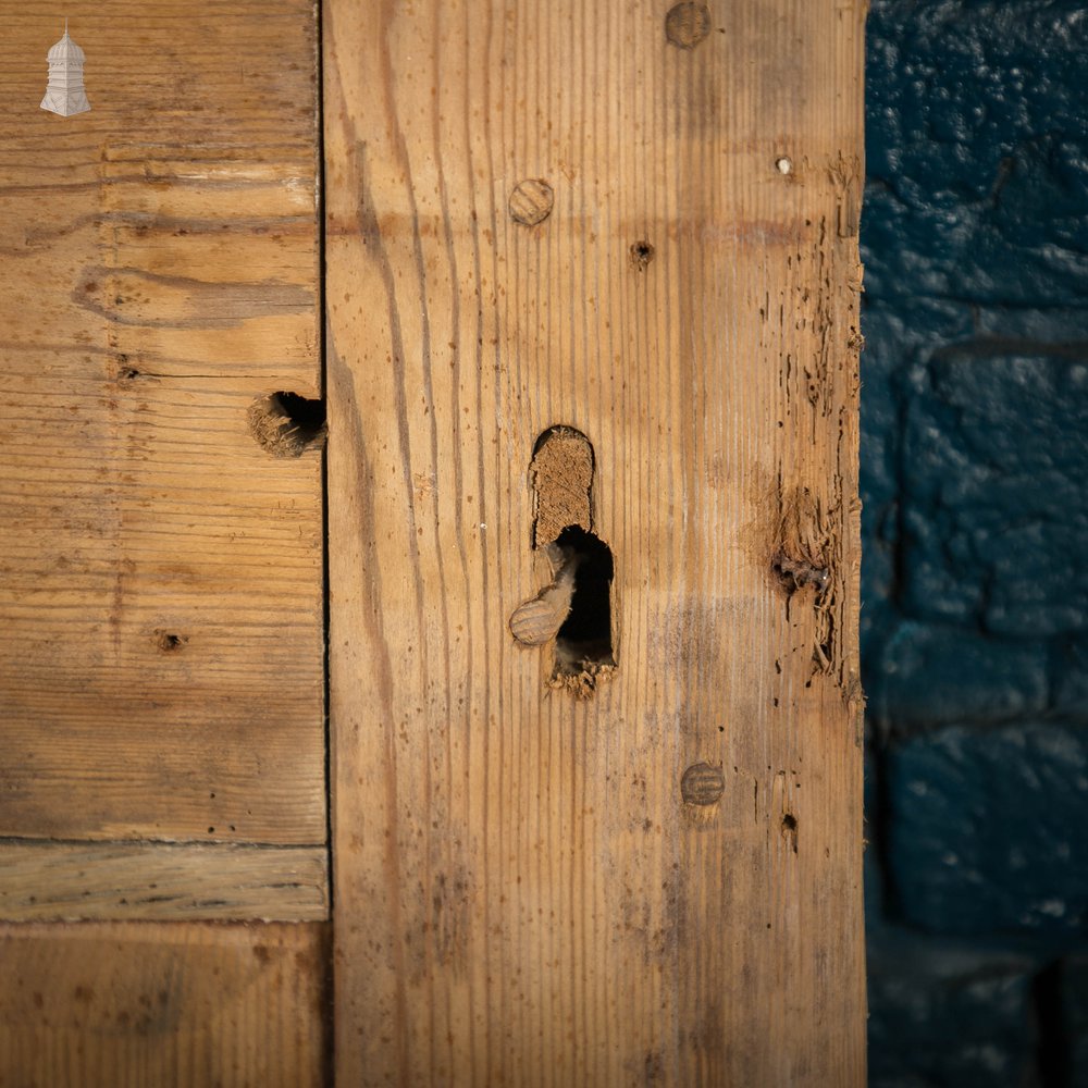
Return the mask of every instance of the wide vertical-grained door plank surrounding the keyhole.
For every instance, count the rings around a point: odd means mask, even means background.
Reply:
[[[666,8],[324,9],[344,1084],[864,1083],[864,3]],[[554,424],[588,700],[507,627]]]

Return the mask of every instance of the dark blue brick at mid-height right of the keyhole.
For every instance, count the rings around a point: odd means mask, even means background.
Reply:
[[[903,440],[903,607],[1005,635],[1088,630],[1088,362],[976,345],[927,375]]]

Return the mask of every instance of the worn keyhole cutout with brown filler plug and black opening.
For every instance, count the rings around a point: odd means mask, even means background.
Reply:
[[[510,617],[527,646],[551,647],[548,685],[589,697],[616,668],[611,549],[593,532],[595,458],[581,431],[553,426],[533,447],[532,544],[548,560],[552,581]]]

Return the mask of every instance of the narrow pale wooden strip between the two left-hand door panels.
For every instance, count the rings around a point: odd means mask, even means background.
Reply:
[[[0,843],[0,918],[12,922],[329,916],[323,846]]]

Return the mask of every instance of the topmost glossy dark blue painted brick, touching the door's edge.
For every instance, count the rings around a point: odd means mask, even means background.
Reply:
[[[1083,4],[876,0],[867,30],[867,289],[1081,302]]]

